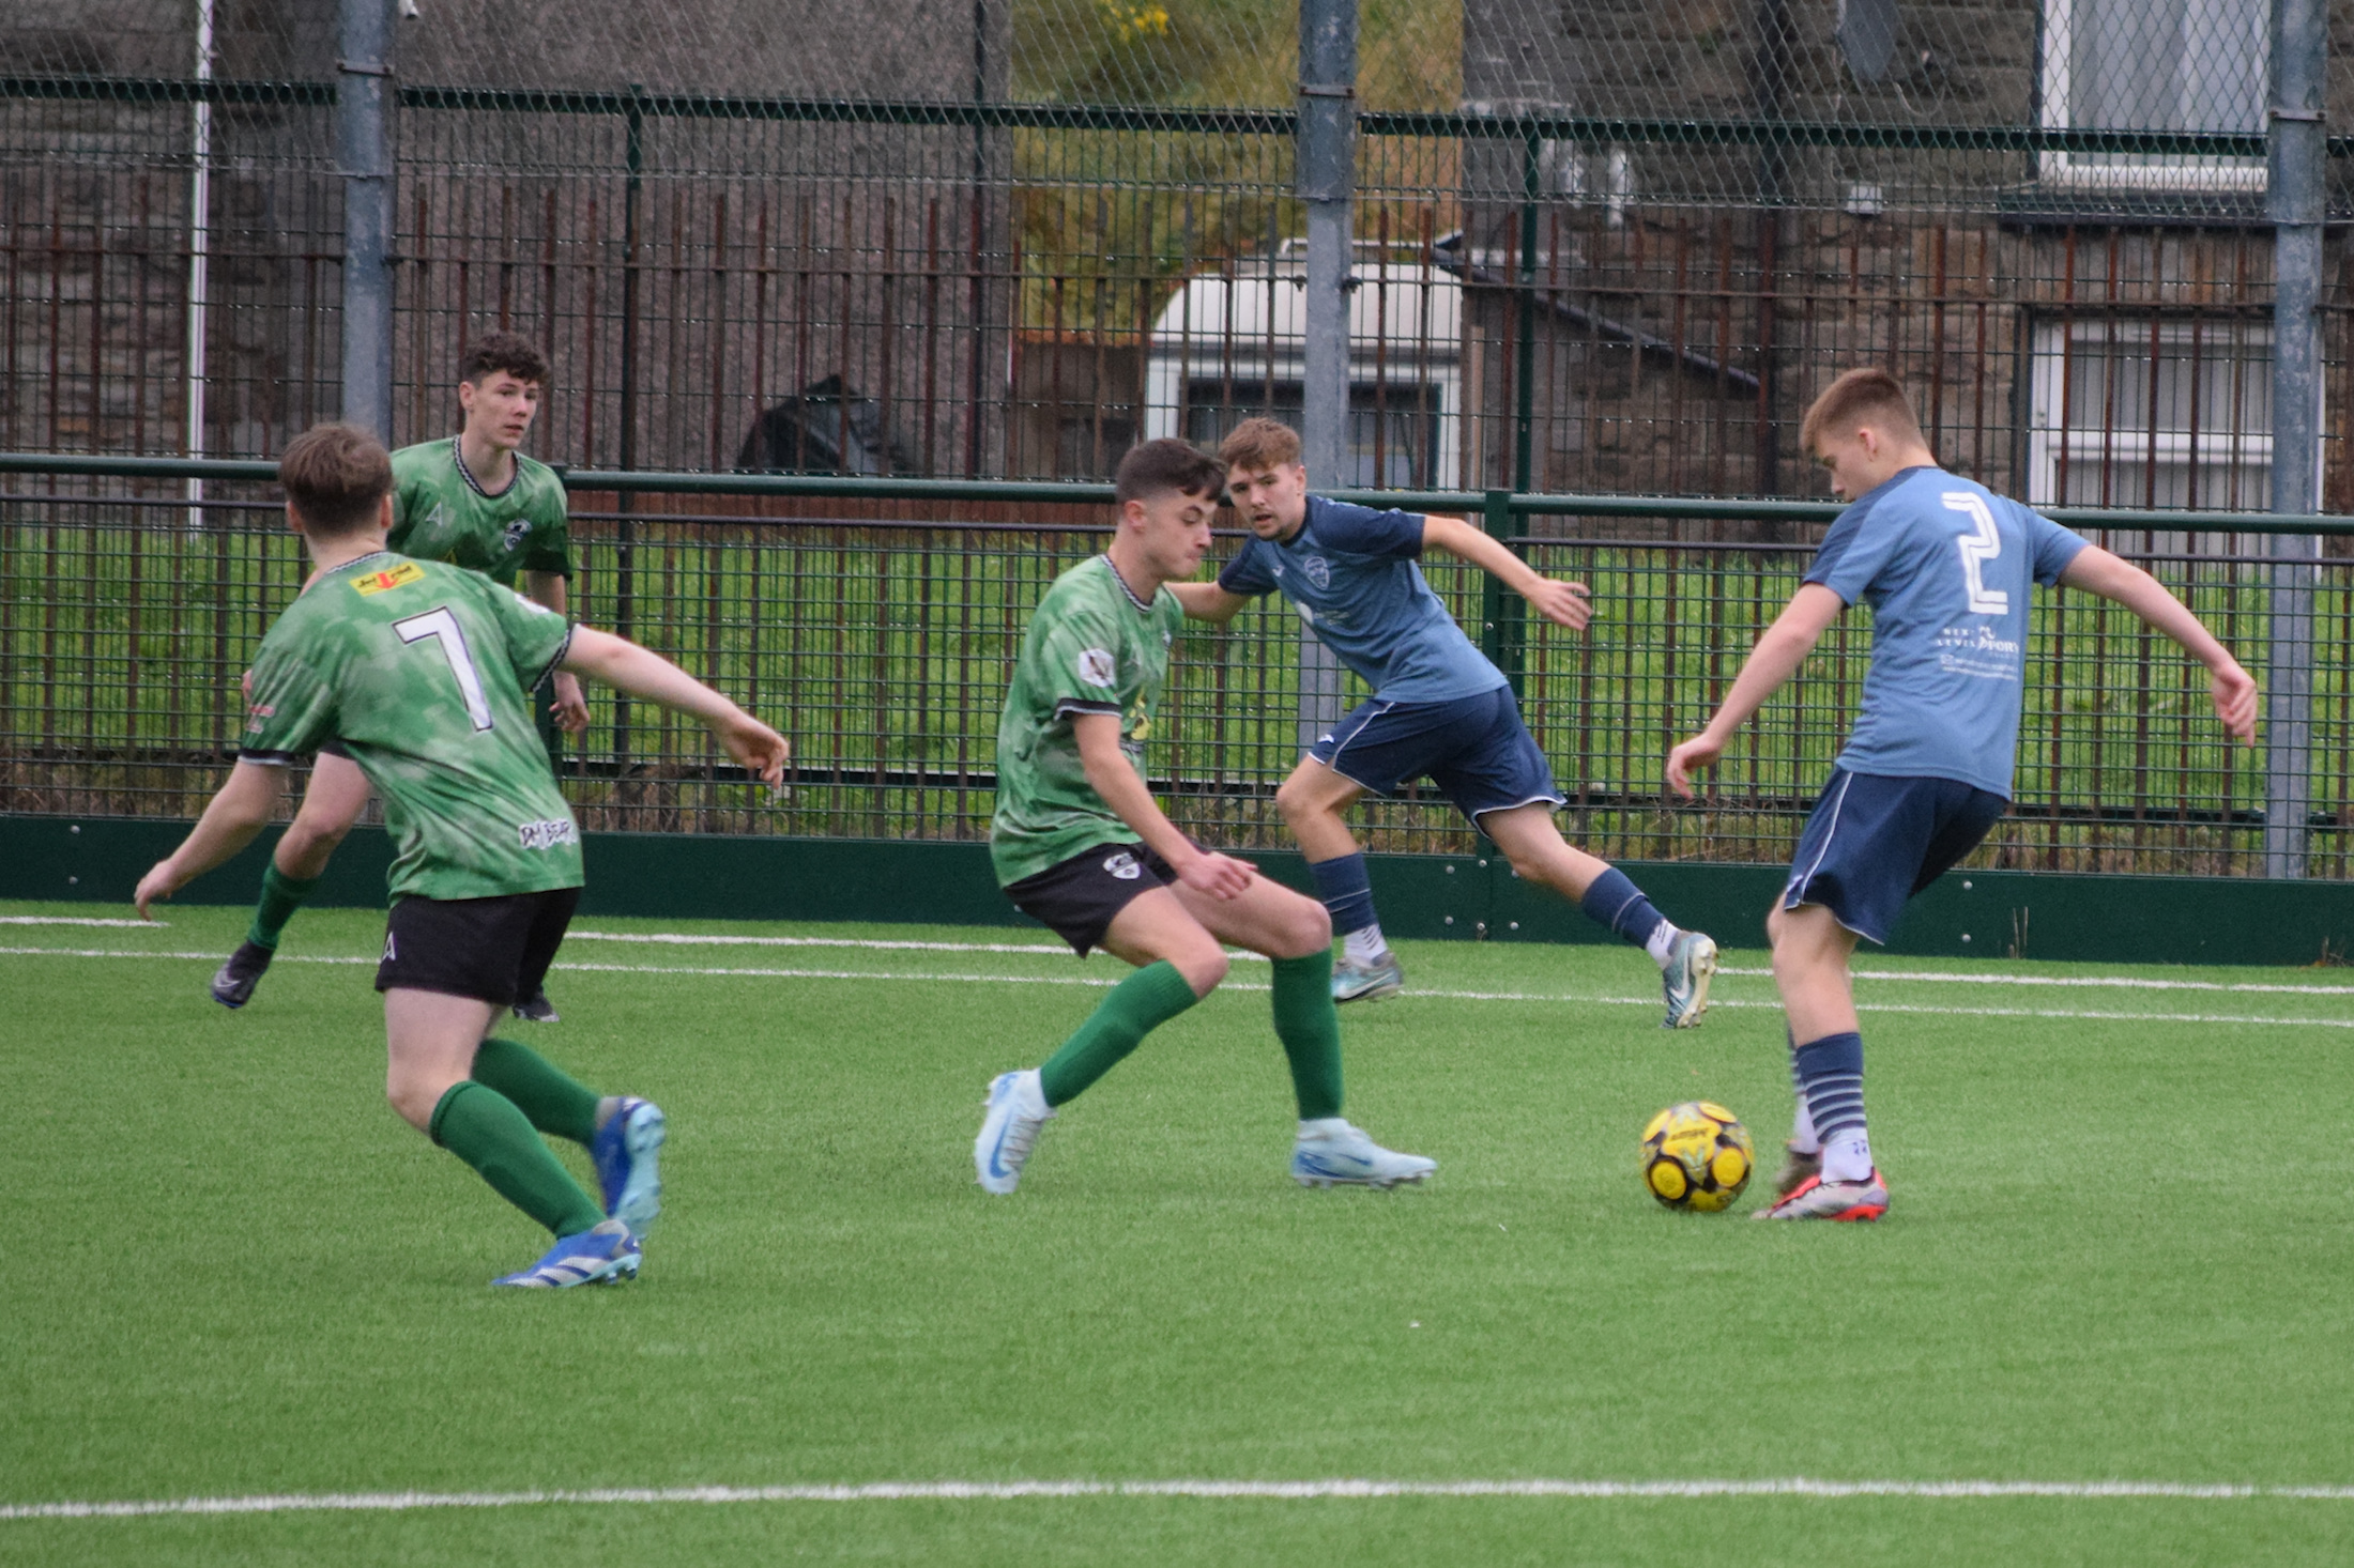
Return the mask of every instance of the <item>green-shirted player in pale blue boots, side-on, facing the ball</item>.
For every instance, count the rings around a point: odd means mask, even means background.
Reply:
[[[989,857],[1015,909],[1080,958],[1102,946],[1137,965],[1045,1067],[998,1074],[972,1144],[979,1184],[1010,1194],[1038,1130],[1156,1026],[1226,977],[1226,942],[1274,961],[1276,1038],[1292,1069],[1292,1177],[1311,1187],[1419,1182],[1436,1165],[1382,1149],[1342,1109],[1332,923],[1316,899],[1205,850],[1144,782],[1184,612],[1165,584],[1210,549],[1224,469],[1182,440],[1121,459],[1111,551],[1055,579],[1031,617],[998,720],[998,810]]]

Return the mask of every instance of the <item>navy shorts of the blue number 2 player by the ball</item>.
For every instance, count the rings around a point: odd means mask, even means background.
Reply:
[[[1798,836],[1782,909],[1822,904],[1857,937],[1886,944],[1921,892],[1977,848],[2010,800],[1961,779],[1831,770]]]

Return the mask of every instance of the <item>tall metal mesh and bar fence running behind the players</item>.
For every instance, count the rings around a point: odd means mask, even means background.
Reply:
[[[1306,403],[1297,5],[400,9],[393,443],[452,428],[461,346],[497,327],[548,351],[532,452],[579,469],[1099,480],[1137,438],[1215,440]],[[2272,506],[2262,5],[1363,0],[1356,16],[1346,417],[1318,480],[1820,497],[1798,417],[1829,377],[1878,363],[1914,386],[1951,469],[2032,504]],[[2321,108],[2342,125],[2354,7],[2326,21]],[[339,59],[332,7],[294,0],[49,0],[0,19],[0,450],[268,457],[344,407]],[[2335,217],[2354,214],[2349,151],[2328,144]],[[2330,240],[2323,511],[2354,511],[2349,304]],[[12,490],[7,810],[191,810],[224,678],[294,570],[266,490]],[[650,751],[669,732],[607,730],[572,758],[584,819],[977,831],[991,725],[975,716],[993,713],[1003,650],[986,638],[1003,629],[975,633],[953,673],[925,659],[958,640],[956,614],[1003,617],[1033,593],[1088,544],[1057,530],[1090,516],[958,504],[862,530],[807,506],[772,527],[680,497],[577,504],[591,619],[624,610],[629,532],[666,572],[645,589],[631,556],[636,631],[690,662],[791,633],[713,669],[791,706],[805,768],[805,718],[840,737],[822,758],[836,772],[805,772],[789,805],[723,810],[739,800],[725,786],[643,782],[709,782],[709,758],[669,751],[683,739]],[[1641,650],[1612,664],[1612,631],[1530,640],[1535,723],[1584,789],[1582,831],[1615,855],[1777,852],[1794,779],[1829,756],[1855,690],[1846,662],[1810,676],[1820,732],[1761,739],[1735,805],[1662,812],[1638,751],[1697,718],[1754,624],[1709,610],[1718,643],[1702,652],[1681,640],[1685,612],[1711,593],[1777,600],[1810,530],[1770,509],[1532,527],[1547,565],[1617,584]],[[2166,518],[2100,537],[2194,586],[2265,664],[2262,539]],[[2312,869],[2333,876],[2347,544],[2333,537],[2312,579],[2305,770]],[[796,598],[829,579],[833,598]],[[967,586],[984,596],[958,598]],[[777,619],[746,622],[749,603]],[[923,617],[892,619],[909,603]],[[144,614],[172,617],[153,652],[129,636]],[[2048,614],[2050,680],[2034,690],[2060,706],[2032,713],[2048,746],[2022,751],[2034,793],[1994,852],[2243,869],[2262,765],[2201,751],[2203,730],[2168,706],[2175,666],[2140,662],[2123,626],[2090,605]],[[932,652],[892,685],[864,662],[899,659],[878,650],[902,631]],[[89,638],[129,640],[101,655]],[[1186,650],[1210,659],[1179,673],[1170,768],[1191,822],[1266,831],[1292,746],[1290,640],[1259,624]],[[840,669],[810,673],[824,659]],[[845,671],[880,680],[887,718],[838,706]],[[1208,702],[1212,678],[1245,680],[1248,718]],[[1455,831],[1419,805],[1379,822],[1387,848]]]

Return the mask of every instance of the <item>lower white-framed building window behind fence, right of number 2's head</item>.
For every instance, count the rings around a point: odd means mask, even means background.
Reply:
[[[2246,318],[2039,323],[2036,506],[2272,506],[2272,327]]]

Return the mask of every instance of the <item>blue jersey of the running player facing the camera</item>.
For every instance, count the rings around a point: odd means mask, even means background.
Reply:
[[[1422,582],[1422,518],[1309,497],[1299,532],[1250,539],[1217,586],[1283,591],[1323,645],[1384,702],[1455,702],[1507,685]]]

